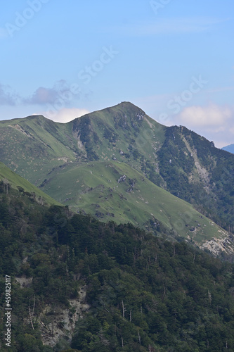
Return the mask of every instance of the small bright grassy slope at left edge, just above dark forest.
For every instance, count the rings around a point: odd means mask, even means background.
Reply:
[[[58,201],[45,194],[41,189],[38,189],[33,184],[22,178],[21,176],[15,174],[15,172],[11,171],[4,163],[0,162],[0,180],[8,180],[8,183],[11,184],[11,187],[17,189],[17,187],[22,187],[25,191],[30,193],[35,193],[37,198],[41,197],[48,203],[61,205]]]

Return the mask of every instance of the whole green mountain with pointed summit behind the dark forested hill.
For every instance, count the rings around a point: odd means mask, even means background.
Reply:
[[[163,226],[216,250],[213,237],[220,249],[231,242],[214,222],[233,231],[234,156],[186,127],[160,125],[124,102],[66,124],[41,115],[1,121],[0,136],[1,161],[72,210]]]

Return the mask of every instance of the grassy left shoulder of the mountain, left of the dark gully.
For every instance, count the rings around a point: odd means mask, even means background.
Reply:
[[[1,161],[33,184],[40,184],[52,168],[75,160],[65,124],[30,116],[0,121],[0,128]]]

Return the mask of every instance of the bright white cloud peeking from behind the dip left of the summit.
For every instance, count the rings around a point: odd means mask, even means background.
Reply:
[[[89,113],[90,111],[86,109],[81,109],[81,108],[63,108],[60,111],[46,111],[42,113],[42,115],[45,116],[45,118],[49,118],[50,120],[53,120],[55,122],[69,122],[74,120],[75,118],[79,118],[80,116],[85,115],[86,113]]]

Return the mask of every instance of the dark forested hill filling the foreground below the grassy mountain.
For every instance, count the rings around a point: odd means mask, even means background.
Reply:
[[[233,351],[233,265],[0,184],[11,351]],[[163,233],[159,233],[163,237]],[[1,310],[1,351],[5,316]]]

